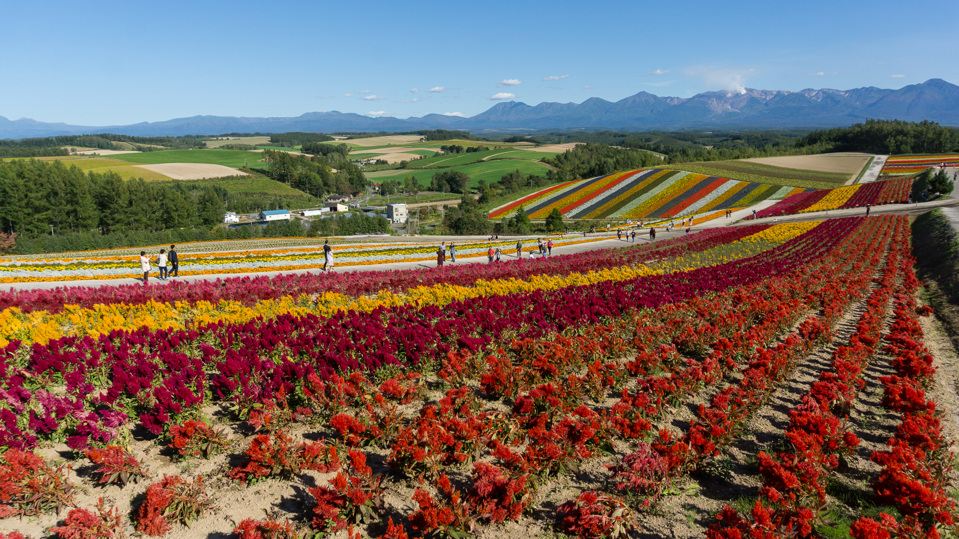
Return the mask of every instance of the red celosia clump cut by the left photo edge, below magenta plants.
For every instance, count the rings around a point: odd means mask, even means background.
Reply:
[[[0,455],[0,518],[30,516],[74,504],[70,466],[51,467],[32,451]]]

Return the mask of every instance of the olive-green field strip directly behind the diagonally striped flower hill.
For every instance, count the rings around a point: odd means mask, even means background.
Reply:
[[[824,173],[802,169],[787,169],[751,161],[706,161],[701,163],[677,163],[661,165],[658,169],[672,169],[709,176],[728,177],[742,181],[755,181],[772,185],[792,185],[813,189],[840,187],[849,180],[848,174]]]

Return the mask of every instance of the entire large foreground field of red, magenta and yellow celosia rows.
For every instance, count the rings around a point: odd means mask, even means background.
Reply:
[[[0,536],[955,533],[909,230],[0,293]],[[870,460],[875,391],[899,426]],[[837,523],[863,474],[882,510]]]

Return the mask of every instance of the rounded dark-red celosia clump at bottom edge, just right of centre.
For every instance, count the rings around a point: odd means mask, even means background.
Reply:
[[[556,527],[586,539],[616,539],[636,527],[636,518],[619,498],[586,491],[556,509]]]

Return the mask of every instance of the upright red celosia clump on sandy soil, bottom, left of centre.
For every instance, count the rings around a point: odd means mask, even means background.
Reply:
[[[383,511],[383,487],[380,474],[366,465],[366,455],[350,450],[346,475],[337,473],[329,480],[332,488],[316,486],[310,494],[316,499],[313,527],[339,531],[348,522],[369,524],[379,520]]]

